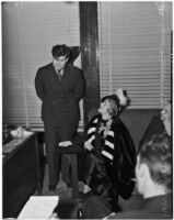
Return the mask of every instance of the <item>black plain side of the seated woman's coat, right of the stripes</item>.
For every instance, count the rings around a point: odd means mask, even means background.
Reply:
[[[124,199],[128,199],[135,187],[132,178],[135,178],[136,148],[129,131],[121,121],[117,125],[115,145],[119,152],[119,158],[114,160],[114,166],[117,166],[118,170],[116,188]]]

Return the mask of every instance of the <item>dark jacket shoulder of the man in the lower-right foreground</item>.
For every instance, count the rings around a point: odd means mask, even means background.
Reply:
[[[109,219],[172,219],[172,194],[143,199],[136,209]]]

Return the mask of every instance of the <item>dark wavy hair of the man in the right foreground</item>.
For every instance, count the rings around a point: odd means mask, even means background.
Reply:
[[[167,134],[153,135],[138,151],[140,163],[149,167],[154,183],[163,185],[167,191],[172,189],[172,147]]]

